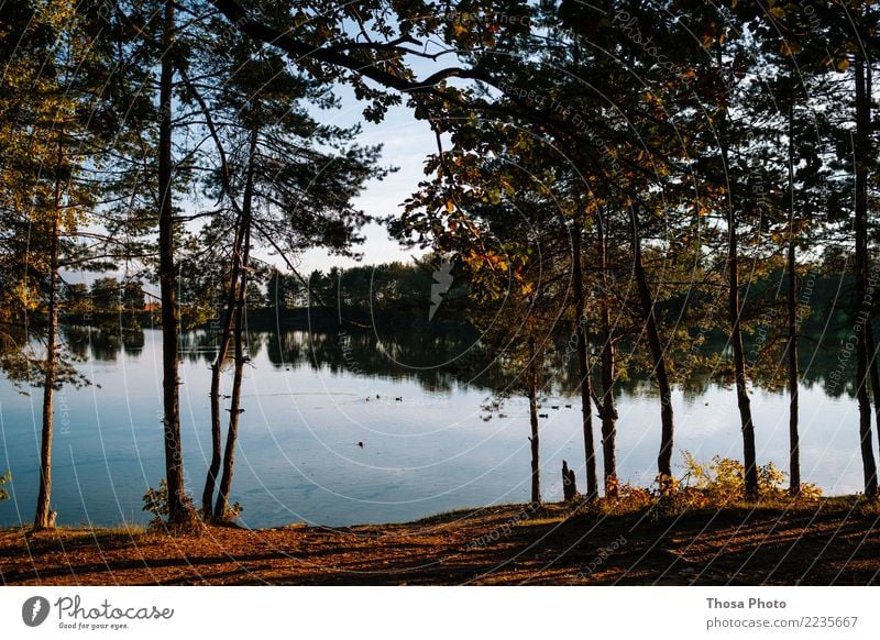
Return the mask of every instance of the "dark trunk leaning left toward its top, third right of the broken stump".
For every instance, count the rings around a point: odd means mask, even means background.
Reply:
[[[645,275],[645,264],[641,260],[641,238],[639,234],[639,219],[636,208],[630,207],[632,222],[632,267],[636,272],[636,286],[639,290],[641,306],[645,309],[645,328],[648,332],[648,345],[653,360],[653,374],[660,391],[660,453],[657,456],[657,472],[659,475],[660,490],[666,492],[672,479],[672,443],[675,433],[674,417],[672,415],[672,387],[667,373],[667,361],[663,354],[663,343],[660,340],[660,329],[657,324],[653,297]]]

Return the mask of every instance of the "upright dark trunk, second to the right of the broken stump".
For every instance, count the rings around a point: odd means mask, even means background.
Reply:
[[[605,467],[605,495],[617,497],[617,407],[614,406],[614,329],[610,318],[608,243],[604,213],[596,218],[602,257],[602,461]]]

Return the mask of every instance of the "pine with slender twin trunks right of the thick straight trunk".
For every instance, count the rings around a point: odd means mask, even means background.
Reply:
[[[280,19],[282,22],[293,16]],[[292,23],[293,24],[293,23]],[[216,21],[208,27],[217,27]],[[275,51],[251,38],[224,31],[220,38],[204,38],[200,55],[191,62],[176,58],[186,98],[200,110],[213,154],[206,156],[206,190],[221,208],[205,230],[207,246],[226,252],[223,319],[218,355],[211,375],[212,455],[202,492],[202,511],[216,520],[228,512],[233,456],[238,437],[240,391],[248,362],[244,344],[246,304],[263,306],[255,288],[252,244],[274,251],[292,266],[292,257],[305,249],[323,246],[341,255],[354,255],[358,233],[367,217],[353,198],[370,178],[386,170],[376,165],[378,147],[353,143],[359,128],[323,125],[307,104],[333,107],[326,87],[292,70]],[[191,68],[190,68],[191,67]],[[194,79],[221,75],[222,86]],[[232,236],[231,245],[227,240]],[[275,277],[273,275],[273,277]],[[277,296],[278,278],[270,283]],[[273,289],[276,293],[273,293]],[[276,300],[277,301],[277,300]],[[230,347],[233,386],[226,446],[221,445],[221,373]],[[219,489],[215,486],[221,472]]]

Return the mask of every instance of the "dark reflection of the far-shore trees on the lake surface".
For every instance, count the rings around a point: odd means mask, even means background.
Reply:
[[[73,355],[77,358],[116,361],[121,352],[139,356],[145,344],[145,333],[140,328],[79,327],[63,328],[63,335]],[[453,323],[407,323],[405,327],[386,327],[383,330],[346,327],[342,331],[258,330],[246,333],[248,351],[256,357],[266,349],[268,361],[277,368],[308,366],[333,374],[349,373],[364,377],[386,379],[416,379],[429,391],[443,391],[455,384],[477,388],[503,390],[515,384],[521,372],[505,366],[504,357],[495,357],[482,349],[479,334],[469,327]],[[568,334],[561,333],[556,346],[547,356],[547,385],[542,395],[572,395],[579,384],[574,355],[566,349]],[[217,354],[216,331],[202,329],[180,335],[182,357],[190,363],[209,365]],[[818,386],[831,397],[854,396],[849,378],[851,363],[844,361],[844,379],[837,388],[827,390],[827,376],[840,365],[839,336],[826,338],[820,344],[804,338],[800,350],[801,383],[806,388]],[[623,346],[623,345],[622,345]],[[713,384],[733,385],[729,367],[718,354],[724,341],[713,340],[705,345],[704,364],[690,366],[686,375],[680,376],[678,386],[685,402],[698,400]],[[620,353],[626,353],[620,349]],[[759,388],[780,390],[785,374],[781,353],[768,353],[750,372]],[[620,395],[654,396],[651,371],[638,358],[628,361],[615,385]],[[684,372],[683,372],[684,373]],[[594,375],[598,375],[594,367]]]

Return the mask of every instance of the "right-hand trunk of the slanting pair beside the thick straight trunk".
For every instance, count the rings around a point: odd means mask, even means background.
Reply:
[[[218,521],[227,519],[229,506],[229,492],[232,487],[232,473],[234,471],[235,442],[239,438],[239,416],[241,409],[241,385],[244,375],[244,301],[248,291],[248,269],[250,268],[249,257],[251,254],[251,211],[253,202],[253,180],[254,163],[256,159],[257,131],[251,131],[250,148],[248,152],[248,176],[244,184],[244,195],[242,197],[242,241],[241,241],[241,264],[240,282],[238,288],[238,300],[235,304],[235,328],[233,340],[235,345],[235,368],[232,375],[232,399],[229,409],[229,430],[227,432],[227,445],[223,452],[223,475],[220,478],[220,488],[217,492],[217,504],[213,517]]]

